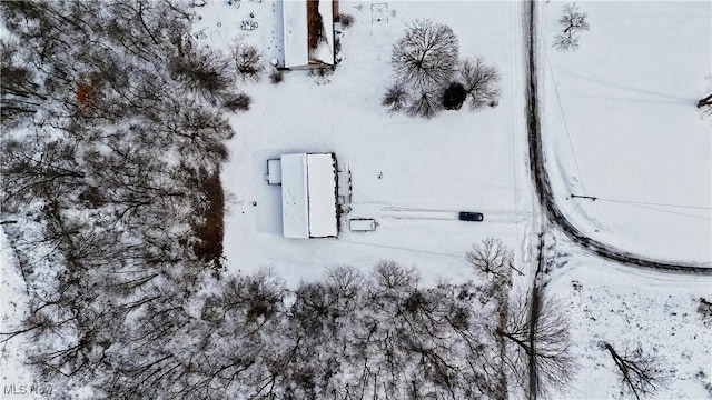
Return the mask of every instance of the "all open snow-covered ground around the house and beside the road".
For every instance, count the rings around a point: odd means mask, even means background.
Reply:
[[[577,227],[620,248],[710,262],[712,136],[694,101],[705,94],[704,76],[712,72],[712,6],[581,2],[591,31],[570,53],[551,49],[563,3],[538,6],[543,132],[558,203]],[[227,266],[245,272],[274,266],[294,287],[332,264],[368,269],[388,258],[416,266],[425,283],[458,281],[472,278],[464,253],[490,236],[514,247],[523,262],[536,216],[525,159],[520,7],[342,1],[340,11],[356,22],[340,36],[345,59],[334,74],[293,71],[278,86],[267,79],[245,83],[254,102],[231,119],[237,134],[222,172]],[[194,10],[199,40],[226,51],[235,39],[254,43],[266,64],[284,57],[279,2],[208,0]],[[431,121],[385,113],[379,102],[390,82],[390,47],[416,18],[452,27],[461,57],[482,56],[497,66],[497,108],[443,112]],[[240,30],[241,21],[258,28]],[[264,174],[267,159],[290,152],[335,152],[339,167],[353,173],[345,217],[374,218],[376,231],[284,239],[279,187],[268,186]],[[571,193],[600,200],[567,200]],[[459,210],[484,212],[485,221],[457,221]],[[4,331],[21,313],[16,300],[22,287],[0,239]],[[562,238],[555,249],[567,263],[553,272],[548,289],[570,311],[582,367],[563,398],[620,397],[612,360],[597,347],[602,340],[640,341],[664,360],[671,380],[659,399],[710,398],[703,382],[712,377],[712,327],[695,309],[700,297],[712,297],[712,280],[633,270]],[[32,383],[14,362],[21,359],[17,347],[8,350],[0,363],[3,384]],[[695,378],[700,371],[705,379]]]

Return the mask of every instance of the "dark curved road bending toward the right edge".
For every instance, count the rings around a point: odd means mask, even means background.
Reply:
[[[538,87],[536,60],[536,1],[530,0],[524,4],[524,34],[526,62],[526,127],[528,132],[530,169],[536,189],[540,204],[546,210],[548,221],[556,224],[571,240],[584,249],[604,259],[616,261],[631,267],[647,268],[662,272],[695,273],[712,276],[712,268],[689,262],[672,262],[655,260],[615,248],[611,244],[587,237],[574,227],[554,201],[548,174],[545,169],[544,151],[542,149],[542,131],[538,116]]]

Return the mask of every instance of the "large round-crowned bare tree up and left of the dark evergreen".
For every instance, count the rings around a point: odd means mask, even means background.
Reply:
[[[393,46],[390,62],[397,80],[414,88],[442,88],[455,73],[458,41],[453,30],[428,19],[415,20]]]

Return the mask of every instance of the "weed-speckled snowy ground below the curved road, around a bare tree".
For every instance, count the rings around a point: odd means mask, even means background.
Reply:
[[[705,324],[696,311],[700,298],[712,294],[712,278],[622,267],[593,258],[562,238],[556,249],[566,264],[552,273],[547,289],[562,299],[571,318],[581,368],[562,398],[634,398],[621,394],[613,360],[599,347],[601,341],[619,351],[640,343],[660,360],[666,381],[650,398],[712,397],[712,323]]]

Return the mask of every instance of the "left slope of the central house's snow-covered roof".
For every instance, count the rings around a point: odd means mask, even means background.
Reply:
[[[281,219],[285,238],[309,237],[306,154],[281,156]]]

